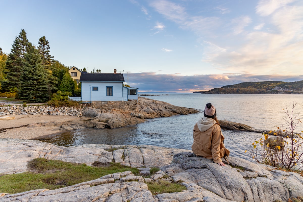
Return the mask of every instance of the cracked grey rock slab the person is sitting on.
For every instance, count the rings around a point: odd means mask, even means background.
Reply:
[[[237,157],[229,157],[229,163],[222,167],[185,152],[175,155],[172,164],[162,171],[173,179],[194,183],[227,200],[287,201],[289,197],[303,196],[303,177],[297,173]]]

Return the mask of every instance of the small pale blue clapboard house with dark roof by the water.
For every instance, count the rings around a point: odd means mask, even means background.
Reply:
[[[86,73],[81,74],[82,101],[128,101],[138,100],[138,88],[123,86],[123,74]]]

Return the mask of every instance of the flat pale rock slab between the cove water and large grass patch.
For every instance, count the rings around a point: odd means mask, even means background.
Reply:
[[[25,172],[27,163],[38,157],[90,166],[95,161],[115,161],[131,167],[161,167],[169,165],[175,154],[188,151],[148,145],[86,144],[62,147],[36,140],[8,138],[0,139],[0,145],[0,174]]]

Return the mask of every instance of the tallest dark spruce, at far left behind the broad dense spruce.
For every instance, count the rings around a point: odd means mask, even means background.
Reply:
[[[24,56],[31,47],[32,44],[28,41],[25,30],[22,29],[19,36],[15,38],[11,52],[6,59],[6,70],[4,71],[6,75],[1,81],[1,92],[17,91],[20,85],[20,69],[24,64]]]

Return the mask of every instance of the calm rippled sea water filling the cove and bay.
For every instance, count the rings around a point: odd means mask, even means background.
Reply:
[[[286,114],[282,109],[286,110],[287,107],[291,111],[294,101],[298,101],[295,113],[303,113],[303,95],[169,93],[169,95],[146,97],[200,110],[204,110],[205,104],[211,102],[217,110],[218,119],[247,124],[260,130],[275,130],[276,125],[286,128],[283,120]],[[191,150],[192,129],[202,116],[203,114],[199,113],[147,119],[145,123],[135,126],[116,129],[80,129],[52,134],[40,140],[61,146],[147,144]],[[299,124],[297,129],[303,131],[303,124]],[[252,161],[249,154],[244,151],[251,149],[252,142],[262,137],[262,134],[229,130],[222,130],[222,133],[225,136],[225,146],[230,149],[231,156]]]

